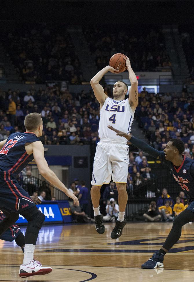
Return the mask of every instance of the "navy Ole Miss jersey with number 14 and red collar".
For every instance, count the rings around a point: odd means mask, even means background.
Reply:
[[[194,177],[191,175],[190,168],[194,163],[194,160],[186,158],[182,155],[182,164],[175,167],[171,161],[167,161],[163,154],[160,154],[160,159],[163,160],[170,168],[171,173],[177,183],[180,185],[182,190],[191,198],[194,198]]]

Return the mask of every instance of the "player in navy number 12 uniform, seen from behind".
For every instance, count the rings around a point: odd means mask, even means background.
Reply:
[[[28,193],[19,185],[16,176],[25,166],[35,160],[39,173],[52,185],[63,191],[78,205],[77,197],[51,171],[44,158],[44,147],[39,136],[42,135],[43,121],[39,113],[30,113],[24,120],[26,131],[11,134],[0,142],[0,210],[5,218],[0,222],[0,236],[14,224],[21,214],[28,221],[25,232],[23,264],[19,276],[29,277],[50,273],[52,268],[42,267],[34,262],[34,249],[39,230],[45,220]]]

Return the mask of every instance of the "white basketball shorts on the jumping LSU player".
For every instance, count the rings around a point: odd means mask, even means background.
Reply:
[[[100,139],[94,157],[91,185],[127,183],[129,147],[120,140]]]

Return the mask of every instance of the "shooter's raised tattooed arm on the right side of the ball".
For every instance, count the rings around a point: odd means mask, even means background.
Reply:
[[[133,72],[133,69],[131,68],[131,63],[130,63],[129,58],[126,55],[125,57],[123,58],[126,61],[126,67],[129,72],[129,80],[131,83],[131,88],[129,90],[129,104],[131,106],[131,109],[135,111],[138,105],[138,80],[137,80],[136,74]]]

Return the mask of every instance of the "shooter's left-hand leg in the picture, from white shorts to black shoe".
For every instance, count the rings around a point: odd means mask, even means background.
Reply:
[[[92,187],[91,187],[91,200],[94,209],[95,228],[99,234],[105,232],[103,225],[103,216],[100,214],[100,188],[103,184],[109,184],[111,181],[112,169],[109,160],[110,144],[98,142],[96,154],[94,157],[93,172],[92,172]]]

